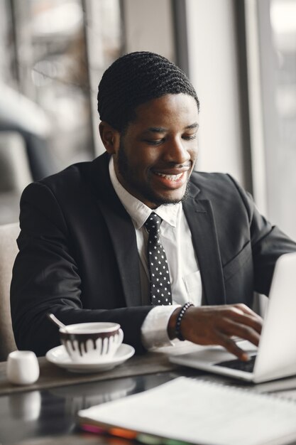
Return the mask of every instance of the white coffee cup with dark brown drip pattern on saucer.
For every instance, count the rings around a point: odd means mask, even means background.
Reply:
[[[60,328],[60,341],[75,362],[109,360],[123,339],[119,323],[77,323]]]

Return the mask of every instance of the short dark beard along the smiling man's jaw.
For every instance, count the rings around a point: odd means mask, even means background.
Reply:
[[[131,189],[134,189],[141,195],[144,199],[148,200],[150,203],[154,203],[155,207],[160,205],[177,204],[180,201],[185,201],[190,191],[189,179],[186,184],[185,192],[180,199],[169,199],[156,193],[148,183],[140,183],[137,181],[136,169],[130,166],[128,163],[128,157],[126,156],[125,147],[121,139],[119,151],[117,154],[117,168],[121,178],[124,179],[124,183],[128,184]]]

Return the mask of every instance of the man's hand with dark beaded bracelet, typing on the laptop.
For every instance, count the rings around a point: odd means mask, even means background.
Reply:
[[[175,338],[175,324],[180,309],[176,309],[168,323],[168,335]],[[241,360],[248,355],[231,339],[238,336],[258,346],[263,320],[245,304],[224,306],[190,306],[185,312],[181,333],[185,340],[199,345],[221,345]]]

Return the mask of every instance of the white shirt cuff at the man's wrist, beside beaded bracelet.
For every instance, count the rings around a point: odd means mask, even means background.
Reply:
[[[146,316],[141,326],[141,341],[146,349],[173,345],[168,336],[168,321],[180,304],[155,306]]]

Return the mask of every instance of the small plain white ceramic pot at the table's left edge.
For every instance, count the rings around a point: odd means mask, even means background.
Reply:
[[[31,385],[39,377],[38,359],[31,350],[13,350],[7,358],[6,377],[15,385]]]

